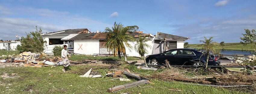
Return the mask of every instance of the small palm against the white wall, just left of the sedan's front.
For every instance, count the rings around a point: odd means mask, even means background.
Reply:
[[[139,36],[134,46],[135,51],[138,52],[140,56],[144,58],[144,62],[146,66],[147,66],[147,63],[145,59],[145,54],[148,53],[147,48],[151,48],[150,45],[146,44],[147,41],[150,41],[150,39],[146,39],[146,37],[144,36]]]

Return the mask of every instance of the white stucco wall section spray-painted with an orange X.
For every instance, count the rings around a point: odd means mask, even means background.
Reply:
[[[99,40],[74,40],[74,53],[85,54],[85,55],[99,54],[100,41]]]

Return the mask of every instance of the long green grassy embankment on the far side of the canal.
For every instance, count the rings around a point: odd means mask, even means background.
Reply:
[[[237,44],[237,45],[234,45],[234,44]],[[242,51],[246,51],[246,50],[253,51],[253,46],[254,46],[254,44],[247,44],[246,46],[244,46],[243,44],[240,44],[240,43],[224,43],[224,45],[227,45],[227,46],[224,46],[225,50],[242,50]],[[202,46],[198,44],[189,44],[189,47],[197,48],[197,49],[202,48]],[[214,48],[217,50],[221,50],[222,46],[218,46]]]

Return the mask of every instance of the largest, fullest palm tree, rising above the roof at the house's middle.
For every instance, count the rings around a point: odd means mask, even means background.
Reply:
[[[132,40],[133,37],[131,35],[125,34],[128,32],[128,28],[125,28],[121,23],[112,26],[112,29],[106,27],[105,31],[107,32],[106,35],[106,47],[108,48],[109,52],[112,52],[114,56],[118,56],[121,60],[121,54],[127,61],[127,55],[125,52],[125,46],[128,48],[132,48],[130,44],[128,44],[129,40]]]

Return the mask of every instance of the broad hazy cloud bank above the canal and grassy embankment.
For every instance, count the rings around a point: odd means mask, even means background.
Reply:
[[[200,40],[204,39],[204,36],[209,38],[213,37],[216,42],[225,41],[229,42],[240,42],[240,37],[245,33],[244,29],[255,29],[256,16],[249,15],[241,18],[228,18],[228,19],[215,19],[209,18],[210,20],[205,21],[204,19],[198,19],[197,22],[190,23],[187,25],[179,25],[175,35],[190,38],[186,42],[189,44],[200,43]],[[202,21],[203,20],[203,21]],[[201,26],[201,24],[208,24],[207,26]],[[175,24],[167,25],[175,27]]]

